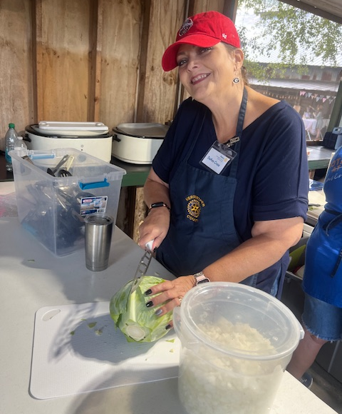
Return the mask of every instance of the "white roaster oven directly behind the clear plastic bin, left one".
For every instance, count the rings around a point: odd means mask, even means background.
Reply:
[[[102,122],[41,121],[26,126],[28,149],[75,148],[110,163],[113,134]]]

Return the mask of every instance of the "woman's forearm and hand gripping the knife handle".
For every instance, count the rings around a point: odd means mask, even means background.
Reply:
[[[144,199],[147,207],[150,207],[152,203],[162,202],[169,208],[172,208],[170,204],[169,186],[157,176],[153,168],[151,168],[145,182]],[[167,235],[169,226],[170,211],[168,208],[151,208],[145,221],[139,228],[139,246],[145,248],[147,242],[154,240],[152,249],[158,248]]]

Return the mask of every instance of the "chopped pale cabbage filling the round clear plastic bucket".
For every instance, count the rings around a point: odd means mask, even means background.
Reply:
[[[178,392],[187,413],[269,413],[286,366],[281,358],[262,360],[263,353],[275,353],[269,339],[247,323],[233,324],[222,319],[217,325],[198,326],[213,343],[246,353],[257,352],[261,359],[235,358],[205,343],[194,346],[190,341],[183,346]]]

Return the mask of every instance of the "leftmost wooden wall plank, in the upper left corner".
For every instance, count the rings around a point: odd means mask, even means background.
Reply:
[[[28,0],[0,3],[0,148],[9,123],[23,132],[33,120],[31,4]]]

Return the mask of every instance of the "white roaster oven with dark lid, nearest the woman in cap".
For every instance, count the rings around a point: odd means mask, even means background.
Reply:
[[[120,123],[113,128],[112,154],[126,163],[151,164],[168,128],[162,123]]]

